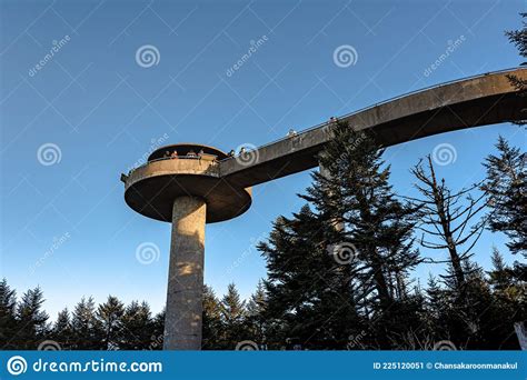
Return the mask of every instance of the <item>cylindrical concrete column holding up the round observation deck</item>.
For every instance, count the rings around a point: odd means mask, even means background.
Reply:
[[[165,350],[201,349],[206,211],[199,198],[173,201]]]

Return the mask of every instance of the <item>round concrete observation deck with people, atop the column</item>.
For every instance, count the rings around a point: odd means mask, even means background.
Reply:
[[[172,221],[176,198],[196,197],[207,203],[207,223],[236,218],[251,204],[251,189],[220,178],[218,161],[228,156],[197,143],[171,144],[153,151],[147,163],[121,179],[125,200],[137,212]]]

